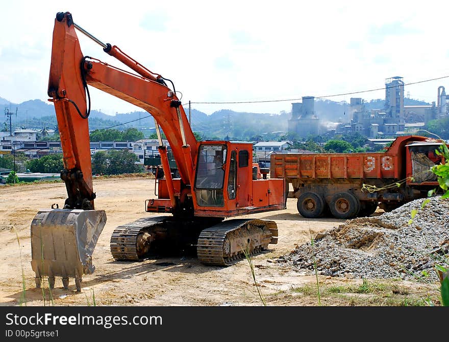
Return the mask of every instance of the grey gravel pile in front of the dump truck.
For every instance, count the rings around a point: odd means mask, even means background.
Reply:
[[[377,217],[348,220],[314,242],[317,270],[322,275],[346,278],[402,278],[428,274],[437,281],[435,256],[449,253],[449,200],[433,197],[404,204]],[[413,221],[412,210],[418,212]],[[314,269],[311,243],[280,257],[298,269]]]

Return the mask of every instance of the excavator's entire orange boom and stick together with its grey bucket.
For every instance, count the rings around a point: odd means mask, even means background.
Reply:
[[[137,74],[84,56],[76,28]],[[175,197],[180,194],[175,194],[167,147],[163,145],[160,129],[165,133],[177,161],[185,193],[189,192],[194,181],[193,161],[197,142],[174,86],[171,90],[162,76],[147,70],[115,45],[104,44],[91,36],[73,22],[69,12],[58,13],[53,30],[48,96],[55,105],[61,137],[64,164],[61,178],[66,185],[67,199],[63,209],[42,210],[31,224],[31,263],[37,287],[42,276],[48,276],[51,287],[55,276],[58,276],[62,277],[65,288],[69,277],[75,278],[77,290],[81,290],[82,275],[94,271],[93,249],[106,224],[105,211],[94,210],[88,85],[139,106],[154,117],[169,193],[169,200],[159,200],[159,204],[170,211],[180,205]]]

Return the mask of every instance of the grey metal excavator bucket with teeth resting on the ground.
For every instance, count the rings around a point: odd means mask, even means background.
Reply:
[[[31,266],[36,273],[36,287],[48,276],[50,288],[55,277],[62,277],[65,289],[69,277],[81,291],[83,274],[95,270],[92,253],[106,224],[104,210],[41,210],[31,223]]]

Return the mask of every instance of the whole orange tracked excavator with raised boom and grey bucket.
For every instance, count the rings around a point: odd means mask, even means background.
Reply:
[[[131,72],[84,56],[76,30],[128,66]],[[171,85],[171,88],[167,86]],[[158,198],[147,199],[148,215],[114,229],[110,247],[116,260],[142,260],[167,250],[196,247],[199,261],[231,265],[245,253],[277,243],[273,221],[227,219],[285,209],[284,179],[257,176],[251,143],[201,141],[193,135],[171,80],[146,69],[115,45],[105,44],[75,24],[69,12],[57,13],[53,31],[48,96],[55,105],[67,199],[63,209],[41,210],[31,224],[32,267],[36,286],[43,276],[50,287],[61,277],[64,288],[74,278],[81,290],[84,274],[94,271],[92,253],[106,224],[104,210],[94,208],[88,117],[88,85],[143,108],[155,120],[164,178]],[[179,170],[170,172],[169,142]]]

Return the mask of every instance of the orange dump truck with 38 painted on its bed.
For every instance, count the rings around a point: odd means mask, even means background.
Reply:
[[[298,199],[304,217],[368,216],[378,206],[390,211],[438,188],[430,168],[444,163],[435,153],[441,144],[407,135],[385,152],[272,154],[270,177],[285,178],[288,197]]]

